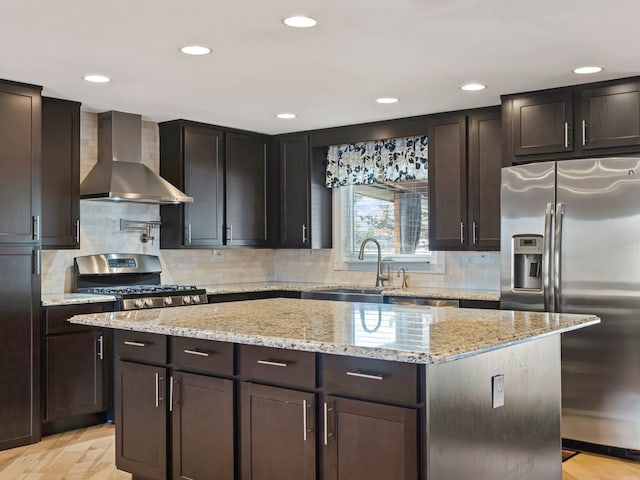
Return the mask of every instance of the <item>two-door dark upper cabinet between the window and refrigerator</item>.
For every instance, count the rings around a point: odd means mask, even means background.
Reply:
[[[429,126],[429,248],[500,249],[500,107],[434,115]]]

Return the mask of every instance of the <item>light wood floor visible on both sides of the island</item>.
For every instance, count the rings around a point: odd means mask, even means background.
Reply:
[[[0,480],[130,480],[114,465],[114,431],[99,425],[0,452]],[[581,453],[562,464],[562,480],[640,480],[640,463]]]

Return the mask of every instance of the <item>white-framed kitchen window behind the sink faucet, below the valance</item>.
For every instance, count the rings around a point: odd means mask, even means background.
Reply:
[[[336,245],[340,245],[343,264],[357,267],[377,260],[373,245],[368,245],[365,262],[358,261],[360,245],[369,237],[380,243],[385,262],[410,263],[413,269],[416,264],[428,269],[437,263],[437,256],[429,250],[428,181],[379,181],[340,187],[337,192],[340,240]]]

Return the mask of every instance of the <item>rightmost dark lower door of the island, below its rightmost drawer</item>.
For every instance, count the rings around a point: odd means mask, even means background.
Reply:
[[[417,480],[417,412],[328,396],[323,422],[325,480]]]

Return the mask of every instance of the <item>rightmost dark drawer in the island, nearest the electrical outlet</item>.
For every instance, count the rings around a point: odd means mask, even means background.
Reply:
[[[322,384],[327,393],[418,403],[418,366],[415,364],[323,355],[322,368]]]

